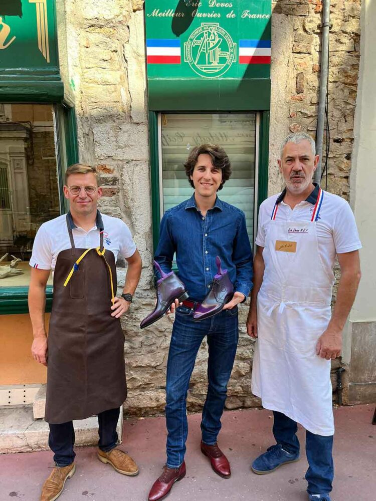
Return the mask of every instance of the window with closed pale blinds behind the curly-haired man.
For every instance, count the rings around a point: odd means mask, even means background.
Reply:
[[[256,113],[162,113],[159,116],[160,208],[163,212],[193,193],[183,167],[190,150],[203,143],[221,145],[232,175],[218,192],[221,200],[245,212],[251,243],[254,232],[256,180]]]

